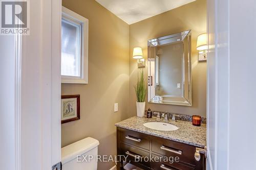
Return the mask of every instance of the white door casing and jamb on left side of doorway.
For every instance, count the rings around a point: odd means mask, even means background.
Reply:
[[[61,0],[30,1],[30,14],[22,41],[21,170],[51,169],[61,157]]]

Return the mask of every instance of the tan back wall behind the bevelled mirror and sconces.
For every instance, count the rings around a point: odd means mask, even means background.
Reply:
[[[141,46],[147,56],[147,40],[185,30],[192,30],[192,96],[193,106],[159,105],[146,103],[151,110],[182,114],[198,114],[206,117],[206,63],[198,62],[197,36],[206,32],[206,0],[167,11],[130,25],[130,112],[136,114],[134,85],[137,81],[137,64],[132,58],[133,47]],[[147,70],[147,69],[146,69]]]

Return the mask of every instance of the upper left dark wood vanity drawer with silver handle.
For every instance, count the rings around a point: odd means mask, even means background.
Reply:
[[[120,129],[120,140],[126,143],[133,144],[136,147],[150,150],[149,135],[131,130]]]

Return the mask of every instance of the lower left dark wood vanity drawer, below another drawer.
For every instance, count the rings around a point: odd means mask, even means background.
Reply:
[[[125,157],[127,157],[128,160],[132,160],[135,161],[137,163],[141,163],[144,165],[150,165],[150,161],[145,162],[144,160],[147,159],[143,159],[143,157],[150,157],[150,153],[139,150],[137,148],[134,148],[130,145],[124,144],[124,143],[120,143],[120,152],[121,155],[124,155]]]

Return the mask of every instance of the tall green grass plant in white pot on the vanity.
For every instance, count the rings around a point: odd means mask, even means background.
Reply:
[[[146,95],[146,86],[145,86],[145,79],[143,69],[140,71],[140,77],[138,73],[138,82],[135,86],[135,92],[137,96],[137,116],[143,117],[145,112],[145,95]]]

